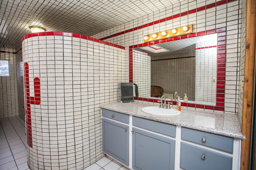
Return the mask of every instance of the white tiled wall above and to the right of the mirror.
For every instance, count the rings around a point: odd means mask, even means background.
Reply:
[[[166,14],[161,13],[161,17],[159,17],[159,12],[155,12],[154,14],[143,16],[136,20],[130,21],[129,23],[124,23],[120,26],[114,27],[113,29],[108,29],[101,33],[94,35],[93,37],[101,39],[110,35],[114,35],[115,33],[126,31],[128,27],[126,25],[133,25],[133,28],[138,27],[135,31],[130,31],[118,36],[113,36],[110,38],[106,38],[106,41],[111,43],[116,43],[126,47],[126,57],[128,57],[128,48],[131,45],[138,45],[143,43],[144,35],[148,35],[154,32],[160,32],[164,27],[166,29],[175,28],[177,25],[189,25],[193,24],[193,32],[200,31],[208,31],[208,30],[218,30],[220,28],[225,28],[226,31],[226,41],[224,46],[226,46],[226,58],[232,55],[232,60],[226,59],[226,74],[225,74],[225,97],[224,97],[224,111],[227,113],[238,113],[238,90],[237,90],[237,81],[230,80],[229,76],[236,76],[239,72],[239,64],[240,59],[240,24],[241,24],[241,3],[238,0],[229,1],[228,3],[219,4],[220,1],[208,1],[202,0],[200,2],[190,2],[189,0],[182,1],[182,6],[170,6],[170,8],[165,8]],[[222,1],[221,1],[222,2]],[[205,9],[205,5],[209,5],[211,3],[214,4],[213,7]],[[178,17],[172,20],[167,20],[162,23],[154,24],[148,27],[140,27],[144,24],[155,21],[154,19],[161,20],[163,18],[168,18],[170,16],[174,16],[179,14],[180,12],[185,11],[186,5],[188,6],[188,15]],[[183,9],[185,7],[185,9]],[[202,7],[202,9],[201,9]],[[207,6],[206,6],[207,7]],[[199,9],[198,12],[196,8]],[[190,11],[191,10],[191,11]],[[162,10],[161,10],[162,11]],[[153,19],[152,19],[153,18]],[[161,25],[161,27],[159,26]],[[175,25],[175,26],[174,26]],[[236,60],[237,59],[237,60]],[[238,69],[237,69],[238,68]],[[233,70],[236,70],[235,72]],[[231,90],[231,91],[230,91]],[[235,94],[234,94],[235,93]],[[233,95],[232,95],[233,94]],[[234,101],[236,101],[234,103]],[[223,107],[223,106],[222,106]]]

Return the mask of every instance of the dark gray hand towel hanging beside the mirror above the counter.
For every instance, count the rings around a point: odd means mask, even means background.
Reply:
[[[134,101],[132,83],[121,83],[122,102]]]

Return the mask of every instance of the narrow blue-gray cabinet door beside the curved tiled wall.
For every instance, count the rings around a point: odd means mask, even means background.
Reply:
[[[103,152],[129,166],[129,126],[102,118]]]

